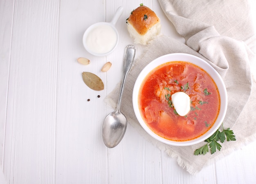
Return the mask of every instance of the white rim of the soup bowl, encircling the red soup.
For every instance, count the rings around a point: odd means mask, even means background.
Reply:
[[[189,141],[171,141],[168,139],[164,139],[163,137],[160,137],[159,135],[155,134],[143,121],[138,107],[138,94],[139,89],[141,86],[142,81],[144,81],[145,77],[153,70],[155,67],[162,65],[164,63],[173,62],[173,61],[185,61],[189,63],[193,63],[197,65],[198,67],[201,67],[203,70],[205,70],[211,78],[215,81],[219,93],[220,93],[220,112],[218,114],[218,117],[212,126],[206,133],[201,135],[198,138],[189,140]],[[199,63],[199,64],[198,64]],[[222,80],[220,74],[206,61],[204,61],[202,58],[199,58],[198,56],[194,56],[192,54],[185,54],[185,53],[172,53],[172,54],[166,54],[163,56],[160,56],[150,63],[148,63],[143,70],[139,73],[137,76],[137,79],[135,81],[133,92],[132,92],[132,105],[133,110],[135,112],[135,116],[137,120],[139,121],[142,128],[153,138],[157,139],[158,141],[161,141],[162,143],[173,145],[173,146],[190,146],[193,144],[198,144],[199,142],[204,141],[205,139],[208,139],[211,135],[213,135],[216,130],[220,127],[222,124],[222,121],[225,118],[226,112],[227,112],[227,90],[225,87],[225,83]]]

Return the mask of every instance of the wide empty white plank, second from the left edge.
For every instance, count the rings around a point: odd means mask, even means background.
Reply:
[[[16,1],[4,148],[8,183],[54,183],[58,1]]]

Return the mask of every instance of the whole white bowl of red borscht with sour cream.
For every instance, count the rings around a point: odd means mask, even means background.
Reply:
[[[209,63],[174,53],[146,65],[135,82],[132,103],[149,135],[165,144],[189,146],[219,128],[227,111],[227,90]]]

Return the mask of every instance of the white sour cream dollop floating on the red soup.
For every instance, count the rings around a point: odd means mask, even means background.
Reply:
[[[176,92],[172,96],[173,106],[180,116],[185,116],[190,111],[190,97],[184,92]]]

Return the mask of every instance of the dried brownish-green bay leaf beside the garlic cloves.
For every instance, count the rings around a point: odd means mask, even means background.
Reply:
[[[97,75],[91,72],[83,72],[84,83],[92,90],[100,91],[104,89],[104,84]]]

